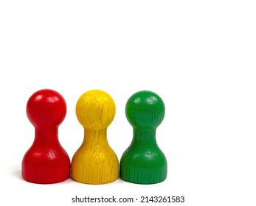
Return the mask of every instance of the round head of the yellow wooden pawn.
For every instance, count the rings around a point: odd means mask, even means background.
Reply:
[[[103,90],[89,90],[77,100],[77,119],[86,129],[106,129],[115,113],[114,100]]]

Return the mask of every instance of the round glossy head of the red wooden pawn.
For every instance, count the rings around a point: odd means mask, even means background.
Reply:
[[[58,127],[65,116],[65,99],[55,90],[38,90],[27,101],[27,117],[34,127]]]

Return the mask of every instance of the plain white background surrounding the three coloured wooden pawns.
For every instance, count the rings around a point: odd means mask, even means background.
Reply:
[[[86,205],[72,203],[76,195],[185,196],[180,204],[132,205],[256,205],[255,10],[246,0],[1,1],[0,205]],[[27,99],[42,88],[66,99],[59,138],[70,158],[83,141],[75,116],[82,93],[105,90],[116,102],[108,141],[119,159],[132,138],[126,101],[139,90],[158,93],[167,180],[22,180],[34,139]]]

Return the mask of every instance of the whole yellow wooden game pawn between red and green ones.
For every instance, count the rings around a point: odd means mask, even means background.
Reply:
[[[105,184],[117,180],[119,162],[107,140],[107,127],[114,120],[114,100],[102,90],[89,90],[76,105],[84,139],[72,158],[71,177],[77,182]]]

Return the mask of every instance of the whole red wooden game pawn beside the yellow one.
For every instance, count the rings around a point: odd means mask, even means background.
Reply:
[[[35,127],[35,141],[22,160],[22,177],[49,184],[69,178],[69,155],[58,141],[58,126],[66,116],[66,102],[55,90],[38,90],[27,102],[27,117]]]

